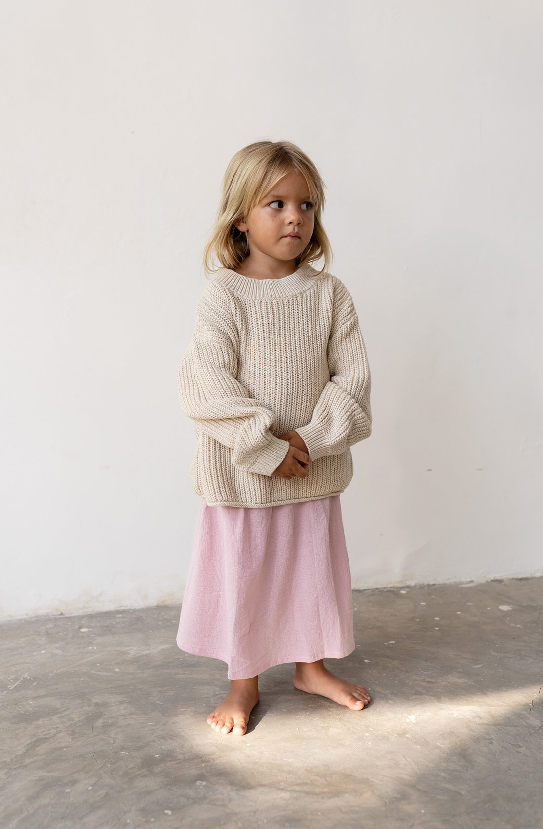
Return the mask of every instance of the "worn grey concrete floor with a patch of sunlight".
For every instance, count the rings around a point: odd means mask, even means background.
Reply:
[[[351,711],[265,671],[244,737],[178,607],[2,624],[0,827],[543,827],[543,579],[356,591]]]

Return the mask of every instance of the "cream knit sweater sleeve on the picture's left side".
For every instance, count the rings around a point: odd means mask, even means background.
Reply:
[[[238,346],[227,292],[210,282],[196,305],[192,341],[177,371],[179,401],[205,434],[232,450],[235,467],[271,475],[289,444],[270,431],[274,412],[236,380]]]

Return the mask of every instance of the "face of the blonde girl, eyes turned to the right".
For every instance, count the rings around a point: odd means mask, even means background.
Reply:
[[[247,234],[252,263],[271,268],[279,263],[293,267],[308,246],[314,226],[315,208],[307,182],[293,170],[279,179],[245,221],[236,222],[238,230]]]

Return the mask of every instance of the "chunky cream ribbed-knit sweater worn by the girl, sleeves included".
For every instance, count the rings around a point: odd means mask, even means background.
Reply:
[[[338,495],[351,445],[371,434],[370,370],[351,294],[305,264],[283,279],[221,269],[196,305],[177,373],[198,447],[189,480],[210,506],[273,507]],[[273,475],[296,431],[313,463]]]

